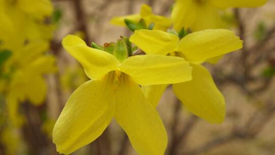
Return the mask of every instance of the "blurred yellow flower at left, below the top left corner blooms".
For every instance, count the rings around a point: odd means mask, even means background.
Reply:
[[[43,55],[48,49],[46,42],[31,42],[20,49],[5,64],[5,70],[11,76],[6,88],[7,107],[10,119],[17,125],[22,122],[17,116],[18,102],[29,99],[33,105],[41,105],[47,92],[43,75],[57,70],[56,59]]]

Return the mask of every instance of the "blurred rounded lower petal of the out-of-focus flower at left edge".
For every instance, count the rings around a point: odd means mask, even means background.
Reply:
[[[24,88],[24,93],[26,94],[26,97],[30,99],[31,103],[34,106],[40,106],[43,104],[47,93],[47,85],[43,77],[33,75],[25,85],[28,87]]]

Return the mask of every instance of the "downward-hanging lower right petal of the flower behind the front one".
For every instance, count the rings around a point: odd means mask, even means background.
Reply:
[[[225,119],[225,99],[217,89],[211,74],[201,65],[193,64],[193,80],[174,84],[176,96],[193,114],[211,123]]]

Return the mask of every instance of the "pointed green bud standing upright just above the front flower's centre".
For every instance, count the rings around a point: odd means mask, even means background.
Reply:
[[[122,62],[126,58],[128,58],[128,48],[124,39],[118,39],[115,49],[114,49],[114,56]]]

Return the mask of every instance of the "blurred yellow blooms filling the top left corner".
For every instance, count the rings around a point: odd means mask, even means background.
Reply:
[[[44,17],[52,11],[49,0],[0,0],[0,48],[18,50],[26,40],[50,39],[54,25]]]

